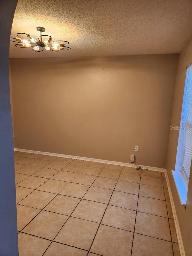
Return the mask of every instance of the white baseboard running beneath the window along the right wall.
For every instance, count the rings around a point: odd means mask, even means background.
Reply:
[[[176,214],[175,204],[173,201],[173,195],[172,195],[171,188],[170,188],[170,182],[169,182],[169,178],[167,175],[167,170],[165,171],[165,178],[166,178],[166,182],[167,182],[168,192],[169,192],[169,196],[170,196],[170,203],[171,203],[173,218],[174,218],[175,227],[176,227],[177,239],[178,239],[178,243],[179,243],[179,251],[180,251],[181,256],[185,256],[181,230],[179,227],[179,221],[178,221],[177,214]]]

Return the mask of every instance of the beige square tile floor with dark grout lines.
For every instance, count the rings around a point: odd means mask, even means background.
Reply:
[[[19,256],[179,256],[164,173],[15,152]]]

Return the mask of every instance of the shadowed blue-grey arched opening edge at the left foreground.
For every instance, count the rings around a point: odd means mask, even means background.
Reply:
[[[18,0],[1,0],[0,62],[0,255],[17,256],[13,131],[9,91],[9,43]]]

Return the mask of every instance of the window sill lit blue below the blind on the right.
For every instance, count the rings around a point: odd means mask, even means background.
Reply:
[[[181,205],[186,206],[188,187],[187,187],[187,184],[183,177],[183,174],[182,174],[182,172],[177,172],[177,171],[173,171],[173,170],[172,170],[172,174],[173,174],[173,179],[175,181],[175,185],[177,188],[177,192],[179,194],[179,199],[180,199]]]

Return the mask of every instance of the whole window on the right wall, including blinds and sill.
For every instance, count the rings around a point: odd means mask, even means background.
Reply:
[[[187,68],[173,177],[182,205],[186,205],[192,157],[192,67]]]

